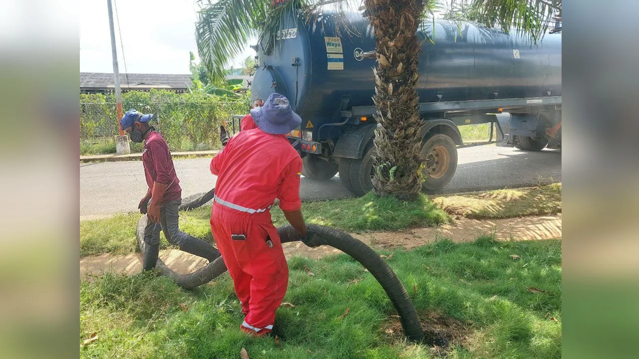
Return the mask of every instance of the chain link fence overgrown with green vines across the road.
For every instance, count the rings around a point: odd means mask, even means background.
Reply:
[[[81,102],[80,109],[81,155],[114,153],[113,137],[118,135],[119,123],[115,102]],[[234,114],[246,113],[249,105],[242,100],[135,102],[123,98],[123,111],[128,109],[153,114],[151,125],[164,136],[171,151],[198,151],[221,148],[220,125],[230,122]],[[141,152],[142,147],[131,142],[132,152]]]

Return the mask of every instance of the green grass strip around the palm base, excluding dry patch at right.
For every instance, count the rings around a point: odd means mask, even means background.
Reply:
[[[344,231],[374,231],[447,223],[448,215],[437,208],[426,195],[414,202],[398,201],[393,197],[375,197],[372,193],[360,198],[327,202],[305,202],[302,206],[308,223],[330,225]],[[279,208],[272,210],[275,225],[287,224]],[[111,252],[135,252],[135,227],[139,213],[115,215],[110,218],[80,222],[80,255],[89,256]],[[180,213],[180,229],[203,240],[212,241],[211,207]],[[162,234],[162,245],[167,241]]]

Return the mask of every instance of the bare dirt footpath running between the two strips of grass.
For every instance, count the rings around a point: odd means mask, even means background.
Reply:
[[[397,232],[371,232],[353,233],[353,236],[374,248],[412,249],[433,243],[439,238],[449,238],[454,242],[474,241],[479,234],[494,233],[497,240],[548,240],[561,238],[562,224],[561,213],[550,216],[533,216],[523,218],[509,218],[500,220],[473,220],[461,218],[454,224],[440,227],[406,229]],[[284,243],[284,255],[304,256],[317,259],[330,254],[339,254],[337,250],[329,246],[309,248],[300,241]],[[114,256],[112,254],[100,254],[87,256],[80,259],[80,274],[100,274],[104,271],[115,273],[139,273],[142,270],[141,255],[127,254],[126,256]],[[192,273],[206,266],[208,261],[201,257],[182,252],[177,249],[160,251],[160,259],[169,268],[177,273]]]

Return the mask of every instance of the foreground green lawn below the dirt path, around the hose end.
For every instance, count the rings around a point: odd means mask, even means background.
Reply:
[[[453,342],[448,358],[550,359],[561,356],[561,258],[558,240],[482,237],[475,243],[440,240],[410,252],[398,249],[389,264],[420,316],[438,313],[466,327],[466,339]],[[79,342],[94,332],[98,339],[82,346],[80,355],[238,358],[245,348],[253,359],[435,357],[426,346],[383,330],[397,321],[390,317],[396,313],[378,282],[351,257],[295,257],[289,268],[284,302],[295,307],[277,312],[280,345],[240,332],[240,305],[227,274],[194,291],[148,274],[82,280]],[[531,293],[528,287],[548,293]]]

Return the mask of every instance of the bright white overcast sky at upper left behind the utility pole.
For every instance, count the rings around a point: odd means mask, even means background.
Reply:
[[[84,0],[79,4],[80,72],[112,73],[107,0]],[[125,72],[120,35],[127,72],[189,73],[189,51],[197,57],[195,0],[114,0],[113,5],[120,73]],[[254,54],[247,48],[236,66],[242,58]]]

